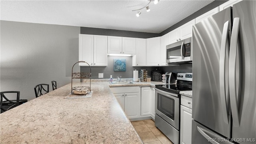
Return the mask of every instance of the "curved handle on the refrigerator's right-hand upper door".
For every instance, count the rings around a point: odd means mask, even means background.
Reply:
[[[233,125],[235,127],[240,126],[238,104],[237,104],[237,92],[236,92],[236,56],[237,56],[237,44],[238,33],[240,27],[240,18],[234,18],[233,29],[230,40],[230,58],[229,58],[229,89],[230,89],[230,106],[233,118]]]

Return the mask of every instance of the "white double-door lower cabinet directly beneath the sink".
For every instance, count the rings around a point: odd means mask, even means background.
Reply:
[[[124,110],[127,118],[140,117],[140,88],[139,86],[111,87],[114,96]]]

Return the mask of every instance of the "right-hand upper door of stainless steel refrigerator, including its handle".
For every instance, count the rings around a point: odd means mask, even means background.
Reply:
[[[240,144],[255,144],[256,1],[244,0],[235,4],[233,17],[229,68],[232,138]]]

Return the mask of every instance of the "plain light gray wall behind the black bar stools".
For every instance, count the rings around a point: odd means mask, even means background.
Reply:
[[[20,91],[20,99],[35,98],[34,86],[71,82],[78,61],[80,27],[0,21],[0,91]],[[79,71],[79,66],[74,68]]]

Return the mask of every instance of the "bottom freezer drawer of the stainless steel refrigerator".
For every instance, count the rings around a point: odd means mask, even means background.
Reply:
[[[192,120],[192,144],[233,144],[231,139],[224,138],[202,124]]]

